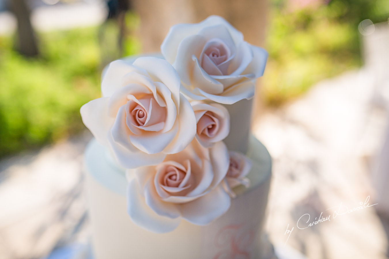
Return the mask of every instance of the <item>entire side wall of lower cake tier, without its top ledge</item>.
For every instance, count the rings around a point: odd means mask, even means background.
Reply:
[[[260,240],[270,178],[231,203],[208,226],[182,221],[174,231],[156,234],[139,228],[126,213],[126,199],[87,173],[87,197],[95,259],[261,258]],[[235,257],[227,257],[235,258]]]

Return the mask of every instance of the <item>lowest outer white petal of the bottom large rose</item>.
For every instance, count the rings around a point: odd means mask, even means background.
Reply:
[[[147,206],[144,198],[140,195],[139,186],[135,179],[128,183],[127,212],[135,224],[154,233],[173,231],[181,222],[179,217],[171,219],[159,216]]]

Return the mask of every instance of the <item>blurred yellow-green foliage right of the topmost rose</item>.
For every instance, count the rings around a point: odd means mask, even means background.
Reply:
[[[319,80],[361,66],[358,24],[389,17],[387,0],[312,0],[300,8],[293,2],[298,1],[271,0],[269,59],[262,79],[271,106],[299,96]]]

